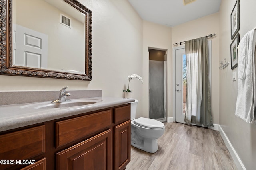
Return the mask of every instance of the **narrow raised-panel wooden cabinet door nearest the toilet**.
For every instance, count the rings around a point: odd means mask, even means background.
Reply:
[[[115,127],[114,153],[114,169],[125,169],[131,160],[131,121]]]

